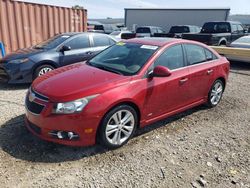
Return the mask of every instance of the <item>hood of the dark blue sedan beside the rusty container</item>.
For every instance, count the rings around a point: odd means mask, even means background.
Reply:
[[[15,59],[24,59],[32,55],[41,53],[43,51],[45,51],[45,49],[23,48],[11,54],[6,55],[2,60],[5,62],[8,62],[8,61],[15,60]]]

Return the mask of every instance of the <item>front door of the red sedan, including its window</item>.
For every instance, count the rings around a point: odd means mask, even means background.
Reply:
[[[154,62],[165,66],[172,74],[169,77],[147,79],[147,96],[144,114],[148,119],[173,112],[188,104],[189,72],[184,60],[182,45],[167,48]]]

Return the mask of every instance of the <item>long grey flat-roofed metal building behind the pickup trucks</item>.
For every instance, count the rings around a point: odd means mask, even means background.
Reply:
[[[125,26],[134,30],[136,26],[159,26],[166,32],[173,25],[202,26],[208,21],[225,21],[230,8],[211,9],[144,9],[126,8]]]

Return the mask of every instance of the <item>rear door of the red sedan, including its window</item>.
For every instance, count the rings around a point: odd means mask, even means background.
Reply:
[[[189,101],[198,102],[208,95],[214,81],[217,57],[208,49],[196,44],[185,44],[190,73]]]

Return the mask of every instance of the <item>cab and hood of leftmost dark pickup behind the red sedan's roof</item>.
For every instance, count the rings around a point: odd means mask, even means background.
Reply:
[[[161,27],[142,26],[136,29],[136,37],[153,37],[156,33],[164,33]]]

